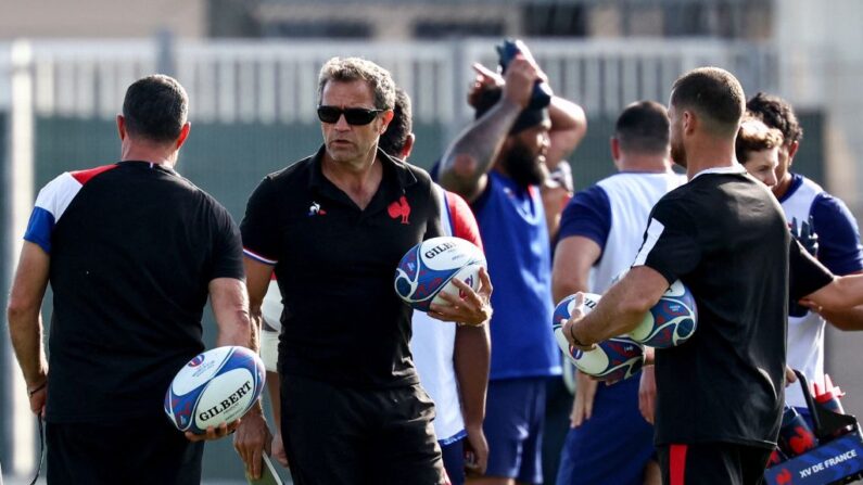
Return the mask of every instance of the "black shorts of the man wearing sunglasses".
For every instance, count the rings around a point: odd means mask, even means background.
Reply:
[[[368,390],[282,376],[281,431],[296,485],[443,483],[433,419],[418,384]]]

